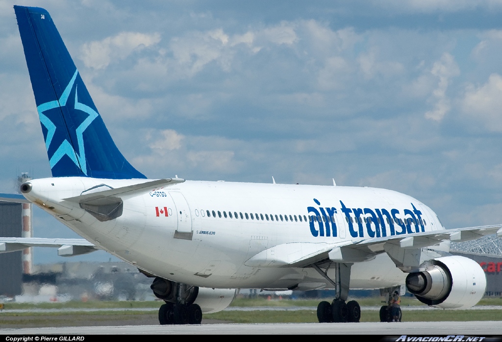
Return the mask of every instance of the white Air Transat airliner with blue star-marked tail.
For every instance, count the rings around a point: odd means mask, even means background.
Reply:
[[[450,242],[502,225],[446,230],[415,198],[367,187],[148,179],[116,147],[49,13],[15,6],[52,178],[0,200],[33,203],[84,239],[1,238],[0,251],[105,250],[153,278],[160,324],[199,324],[239,288],[334,289],[319,322],[358,322],[349,289],[467,308],[486,278]]]

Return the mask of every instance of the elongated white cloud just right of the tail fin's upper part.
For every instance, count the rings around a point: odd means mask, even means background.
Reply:
[[[101,41],[85,43],[81,47],[81,60],[85,66],[93,69],[104,69],[114,59],[124,59],[133,51],[141,50],[160,42],[160,35],[139,32],[121,32]]]

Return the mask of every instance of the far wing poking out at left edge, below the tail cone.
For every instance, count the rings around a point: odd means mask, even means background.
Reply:
[[[0,253],[22,251],[29,247],[55,247],[59,256],[74,256],[100,248],[84,239],[0,238]]]

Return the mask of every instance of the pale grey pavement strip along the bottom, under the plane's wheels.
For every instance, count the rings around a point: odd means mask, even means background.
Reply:
[[[368,334],[489,336],[502,334],[499,321],[402,323],[268,323],[202,325],[77,326],[0,329],[0,334]]]

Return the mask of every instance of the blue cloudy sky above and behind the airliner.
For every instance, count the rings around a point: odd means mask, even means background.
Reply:
[[[51,177],[14,5],[49,11],[149,178],[334,179],[502,223],[502,1],[2,1],[0,192]],[[78,237],[38,209],[34,236]]]

